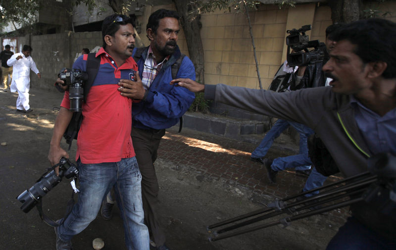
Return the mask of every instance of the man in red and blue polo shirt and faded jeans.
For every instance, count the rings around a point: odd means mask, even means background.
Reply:
[[[103,197],[114,186],[128,250],[148,250],[142,175],[131,139],[132,100],[117,90],[121,79],[140,81],[138,66],[131,57],[135,44],[132,20],[125,15],[107,16],[102,24],[102,38],[103,47],[96,54],[100,58],[98,74],[82,104],[76,153],[79,198],[71,213],[55,227],[56,249],[72,249],[71,238],[96,218]],[[80,56],[73,69],[87,71],[87,59],[87,54]],[[50,143],[48,158],[52,165],[61,157],[69,157],[60,148],[60,140],[72,118],[70,103],[66,91]]]

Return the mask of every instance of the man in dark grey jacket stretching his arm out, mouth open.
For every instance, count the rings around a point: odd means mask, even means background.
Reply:
[[[323,71],[332,87],[274,93],[191,79],[171,82],[206,99],[303,123],[314,129],[345,176],[367,171],[367,159],[396,154],[396,24],[384,19],[347,24]],[[390,202],[394,202],[389,199]],[[396,249],[395,209],[382,213],[376,203],[351,206],[352,216],[327,250]]]

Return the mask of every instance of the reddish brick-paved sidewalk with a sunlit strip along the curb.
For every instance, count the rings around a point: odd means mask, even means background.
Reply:
[[[306,176],[297,175],[294,170],[279,172],[277,183],[271,184],[265,166],[250,160],[250,152],[256,145],[186,128],[178,133],[177,129],[167,130],[159,146],[158,157],[175,164],[176,171],[188,171],[198,181],[220,182],[226,188],[233,188],[233,192],[262,204],[296,195],[305,184]],[[280,157],[292,153],[270,149],[266,156]],[[340,175],[330,176],[325,185],[340,179]],[[343,223],[347,211],[347,208],[333,210],[328,219]]]

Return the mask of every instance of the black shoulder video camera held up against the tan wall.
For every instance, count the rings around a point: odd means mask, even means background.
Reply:
[[[304,25],[300,29],[287,30],[290,34],[286,37],[286,45],[288,46],[287,60],[290,67],[308,65],[310,63],[321,61],[326,57],[327,50],[324,43],[319,40],[309,41],[305,32],[311,29],[311,25]],[[314,48],[309,51],[308,48]],[[290,52],[293,49],[294,52]]]

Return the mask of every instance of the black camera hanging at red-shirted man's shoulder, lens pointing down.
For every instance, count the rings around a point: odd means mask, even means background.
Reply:
[[[81,111],[81,104],[84,99],[83,84],[88,80],[88,73],[79,69],[64,69],[58,74],[60,80],[69,86],[70,111]]]

